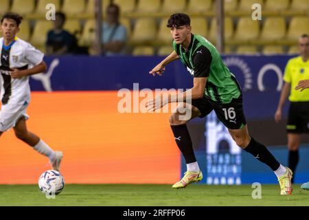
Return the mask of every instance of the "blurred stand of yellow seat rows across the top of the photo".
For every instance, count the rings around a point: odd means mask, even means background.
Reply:
[[[192,31],[205,36],[216,45],[215,0],[114,0],[121,8],[121,23],[130,37],[129,47],[152,46],[159,54],[170,45],[171,36],[166,22],[172,12],[181,11],[192,17]],[[24,16],[19,36],[43,47],[45,28],[40,28],[47,3],[67,14],[65,28],[77,35],[81,45],[89,45],[94,38],[95,0],[1,0],[0,14],[12,10]],[[106,7],[102,4],[103,18]],[[238,52],[244,46],[254,46],[268,52],[271,45],[290,53],[295,39],[309,33],[309,0],[225,0],[225,48]],[[261,21],[253,21],[253,3],[262,5]],[[196,7],[196,5],[198,5]],[[159,28],[158,28],[159,27]],[[158,30],[158,32],[157,32]],[[39,36],[38,36],[39,35]],[[44,36],[43,36],[44,35]],[[43,37],[42,37],[43,36]],[[267,49],[267,50],[266,50]],[[282,50],[274,50],[281,53]],[[271,51],[269,51],[271,52]],[[295,50],[293,50],[295,52]]]

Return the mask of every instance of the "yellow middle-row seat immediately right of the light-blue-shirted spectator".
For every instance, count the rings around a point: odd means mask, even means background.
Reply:
[[[132,41],[133,44],[150,43],[155,39],[157,25],[155,19],[141,18],[137,19],[133,28]]]

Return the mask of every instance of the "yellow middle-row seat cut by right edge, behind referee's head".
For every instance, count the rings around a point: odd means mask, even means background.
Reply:
[[[308,17],[293,17],[290,20],[288,33],[286,38],[289,40],[297,41],[301,34],[309,33],[309,18]]]

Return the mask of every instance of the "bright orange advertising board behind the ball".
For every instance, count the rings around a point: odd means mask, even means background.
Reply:
[[[173,184],[181,155],[169,113],[119,113],[116,91],[33,92],[28,130],[62,151],[68,184]],[[51,169],[11,129],[0,137],[0,184],[36,184]]]

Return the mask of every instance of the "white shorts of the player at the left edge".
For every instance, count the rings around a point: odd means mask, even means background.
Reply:
[[[29,118],[26,113],[27,102],[25,104],[4,104],[0,109],[0,131],[8,131],[16,125],[16,122],[24,117],[25,120]]]

